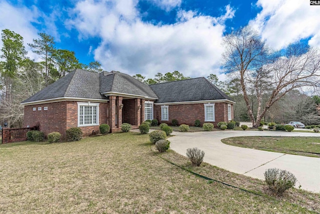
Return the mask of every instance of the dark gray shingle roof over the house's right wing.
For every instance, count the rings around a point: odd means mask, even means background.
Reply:
[[[150,85],[158,96],[156,103],[185,102],[198,100],[230,100],[215,85],[204,77]]]

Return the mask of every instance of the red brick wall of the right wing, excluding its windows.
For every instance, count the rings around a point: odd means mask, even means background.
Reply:
[[[214,126],[220,121],[228,121],[227,103],[215,103]],[[172,119],[177,119],[179,124],[194,125],[195,120],[200,120],[201,125],[204,123],[204,105],[200,104],[181,104],[181,105],[168,105],[169,120],[161,121],[161,106],[154,106],[153,117],[159,123],[171,124]],[[233,118],[233,107],[231,105],[231,118]]]

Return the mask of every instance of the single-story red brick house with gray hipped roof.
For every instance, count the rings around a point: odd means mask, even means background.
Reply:
[[[194,125],[233,119],[234,102],[205,78],[146,85],[120,72],[70,72],[24,100],[24,126],[39,126],[47,135],[80,127],[84,135],[106,123],[111,132],[126,122],[144,120]]]

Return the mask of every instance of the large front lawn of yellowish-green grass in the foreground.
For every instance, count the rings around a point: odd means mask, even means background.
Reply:
[[[114,133],[80,141],[0,145],[0,213],[312,213],[320,196],[290,189],[259,196],[207,183],[158,157],[148,135]],[[161,156],[239,187],[269,194],[261,180]]]

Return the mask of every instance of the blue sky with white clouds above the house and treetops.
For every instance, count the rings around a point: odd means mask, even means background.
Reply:
[[[20,34],[30,59],[39,57],[27,44],[46,33],[80,63],[146,78],[179,71],[224,80],[225,34],[249,25],[275,50],[319,47],[319,20],[320,6],[308,0],[0,0],[0,30]]]

